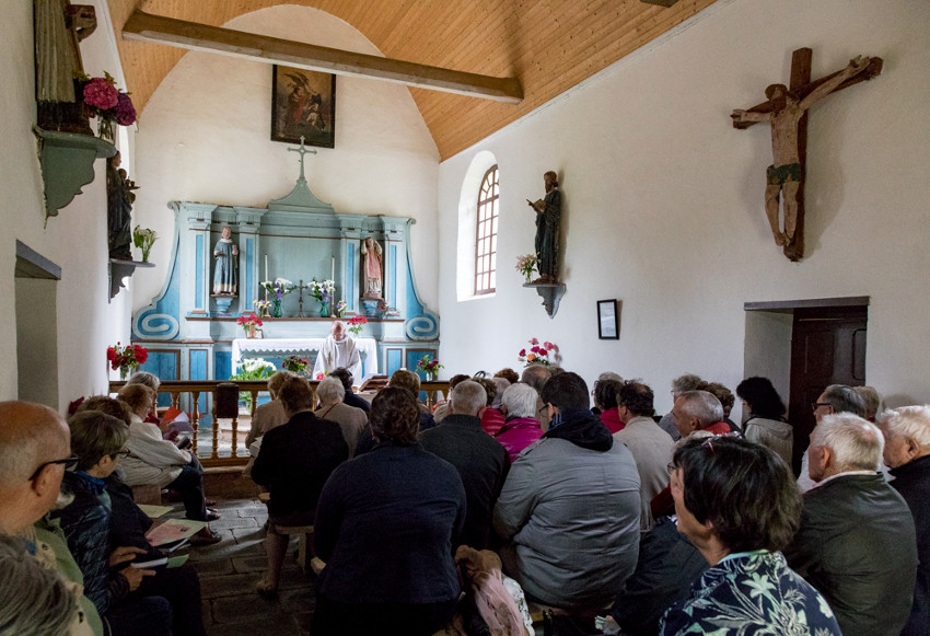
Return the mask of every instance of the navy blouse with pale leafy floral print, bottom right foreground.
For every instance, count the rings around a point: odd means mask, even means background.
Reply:
[[[765,550],[731,554],[708,569],[691,597],[665,612],[660,633],[841,635],[819,592],[788,567],[780,552]]]

